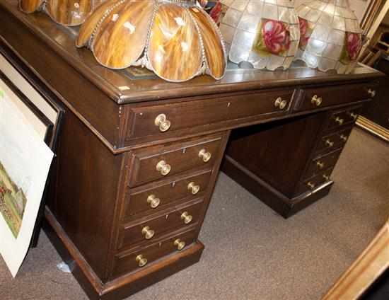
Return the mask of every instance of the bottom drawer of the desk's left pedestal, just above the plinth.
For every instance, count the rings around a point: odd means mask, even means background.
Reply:
[[[175,234],[170,238],[153,243],[150,246],[139,248],[132,253],[116,255],[112,275],[117,277],[124,273],[140,270],[141,267],[146,267],[166,255],[185,250],[194,241],[196,241],[195,231],[187,231],[185,233]]]

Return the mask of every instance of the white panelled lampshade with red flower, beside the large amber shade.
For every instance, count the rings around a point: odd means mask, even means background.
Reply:
[[[291,0],[221,0],[220,30],[231,62],[256,69],[288,69],[300,30]]]

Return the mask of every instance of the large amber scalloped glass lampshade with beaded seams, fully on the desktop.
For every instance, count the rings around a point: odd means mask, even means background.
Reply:
[[[219,28],[193,0],[105,1],[81,26],[76,46],[88,46],[110,69],[142,66],[167,81],[221,79],[226,71]]]

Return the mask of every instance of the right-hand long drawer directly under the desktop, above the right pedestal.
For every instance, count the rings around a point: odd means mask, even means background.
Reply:
[[[371,88],[364,84],[305,88],[302,90],[303,97],[296,110],[312,110],[330,105],[366,100],[371,98],[371,92]]]

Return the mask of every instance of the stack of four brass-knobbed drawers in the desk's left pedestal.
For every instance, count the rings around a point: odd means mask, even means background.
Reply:
[[[204,219],[226,134],[131,151],[112,277],[185,250]]]

